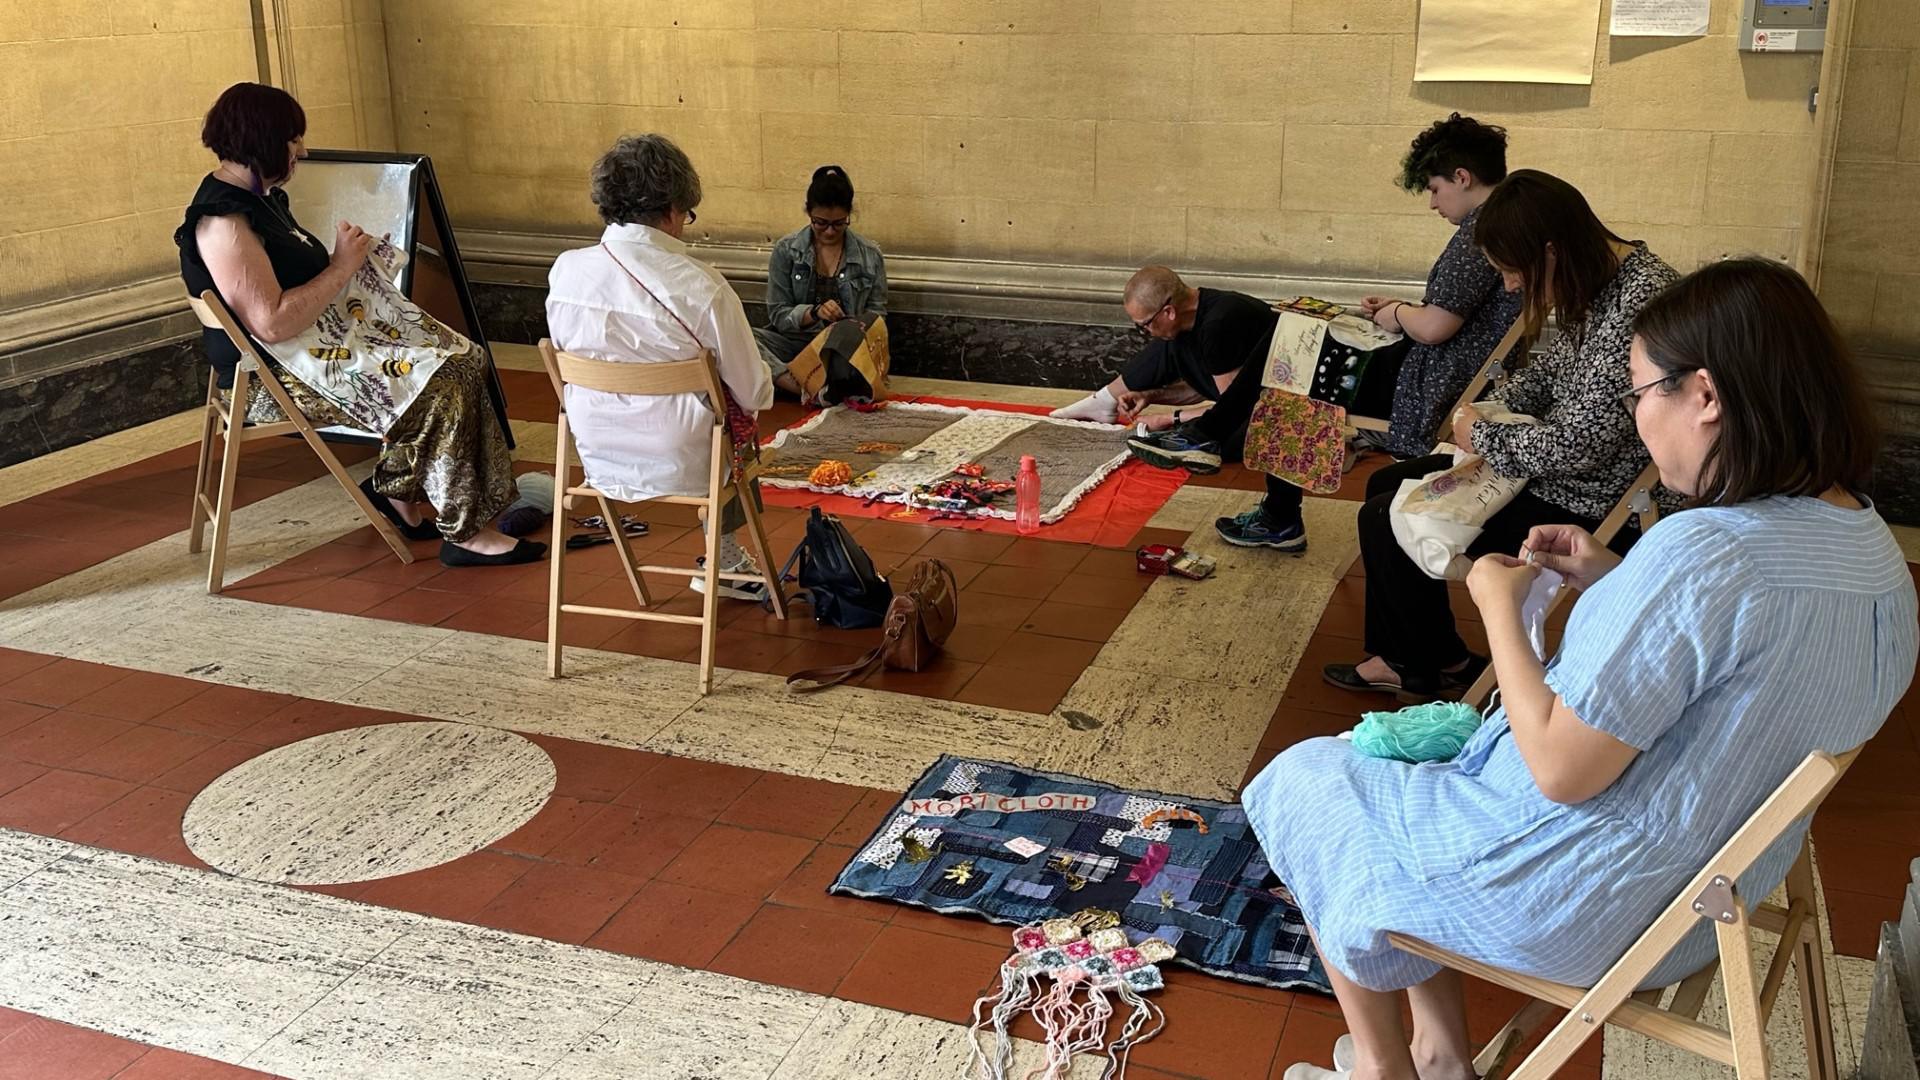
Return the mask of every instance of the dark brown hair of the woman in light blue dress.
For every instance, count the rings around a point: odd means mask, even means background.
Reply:
[[[1713,377],[1720,432],[1695,505],[1866,490],[1880,425],[1847,344],[1791,267],[1709,263],[1649,300],[1634,334],[1663,375]]]

